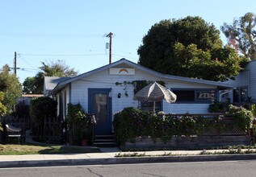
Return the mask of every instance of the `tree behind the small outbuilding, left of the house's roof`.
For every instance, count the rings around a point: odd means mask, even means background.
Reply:
[[[44,76],[77,76],[74,68],[69,68],[63,60],[41,62],[41,71],[34,77],[27,77],[23,82],[24,93],[42,94],[44,92]]]

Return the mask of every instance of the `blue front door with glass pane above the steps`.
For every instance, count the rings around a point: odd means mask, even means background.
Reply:
[[[111,88],[88,88],[89,113],[94,113],[96,119],[95,134],[111,134]]]

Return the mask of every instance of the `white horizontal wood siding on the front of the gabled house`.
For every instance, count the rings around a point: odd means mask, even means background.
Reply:
[[[82,80],[72,82],[71,103],[80,103],[83,109],[88,112],[88,88],[111,88],[112,97],[112,114],[124,109],[125,107],[138,107],[138,101],[133,100],[133,86],[127,84],[126,88],[121,85],[116,85],[116,82],[123,83],[124,81],[133,80],[162,80],[156,76],[151,76],[145,72],[136,70],[135,76],[115,76],[109,75],[108,71],[98,72],[93,76],[88,76]],[[182,81],[163,80],[166,82],[167,88],[216,88],[204,84],[185,83]],[[124,89],[125,88],[125,89]],[[128,97],[125,96],[125,91]],[[118,93],[121,93],[121,98],[118,98]],[[70,101],[70,99],[69,99]],[[208,113],[208,104],[168,104],[163,101],[163,111],[165,113]]]

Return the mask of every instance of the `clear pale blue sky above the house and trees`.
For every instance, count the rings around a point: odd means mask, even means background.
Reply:
[[[0,67],[13,67],[16,51],[20,82],[36,76],[42,61],[65,60],[79,73],[88,72],[108,64],[109,32],[112,61],[136,63],[141,39],[162,19],[200,16],[220,29],[255,9],[255,0],[1,1]],[[224,35],[221,39],[226,43]]]

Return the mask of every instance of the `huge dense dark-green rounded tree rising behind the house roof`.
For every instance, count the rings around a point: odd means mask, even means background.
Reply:
[[[231,47],[223,47],[214,25],[191,16],[153,25],[138,54],[139,64],[157,72],[206,80],[235,76],[244,61]]]

